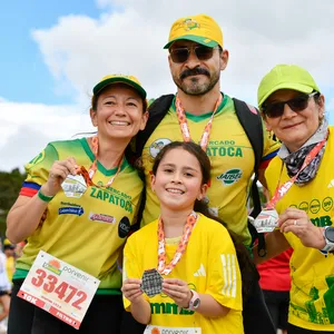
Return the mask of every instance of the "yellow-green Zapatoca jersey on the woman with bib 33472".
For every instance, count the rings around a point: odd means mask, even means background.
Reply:
[[[68,157],[75,157],[87,170],[94,160],[85,138],[51,143],[26,165],[28,177],[20,194],[33,196],[46,183],[53,161]],[[116,170],[98,163],[92,180],[105,185]],[[141,191],[143,183],[126,159],[108,190],[91,186],[81,198],[68,198],[60,190],[48,205],[46,220],[28,238],[17,268],[29,271],[39,249],[43,249],[99,278],[99,288],[119,288],[121,275],[116,261],[126,240],[118,235],[119,223],[127,216],[132,224]]]

